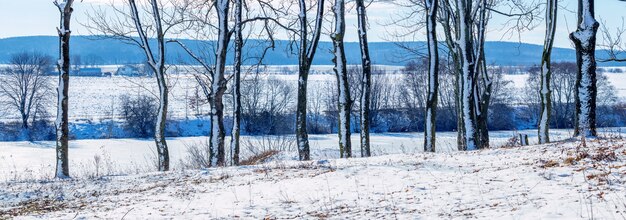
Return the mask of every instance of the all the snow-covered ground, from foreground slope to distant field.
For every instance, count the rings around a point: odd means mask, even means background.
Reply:
[[[626,101],[626,74],[607,76]],[[311,88],[332,77],[311,75]],[[527,77],[505,75],[518,89]],[[74,77],[71,117],[115,117],[120,96],[155,90],[154,81]],[[194,79],[170,83],[171,115],[192,115]],[[54,142],[0,142],[0,219],[626,218],[626,128],[603,128],[603,138],[585,146],[569,139],[571,130],[551,130],[561,142],[501,147],[519,133],[536,143],[536,130],[497,131],[493,149],[457,152],[456,133],[439,132],[438,152],[424,153],[422,133],[372,134],[374,157],[347,160],[338,158],[336,134],[311,135],[310,162],[296,160],[293,137],[244,136],[244,159],[268,140],[284,148],[260,165],[203,170],[189,168],[188,148],[206,137],[170,138],[166,173],[154,172],[152,139],[75,140],[74,179],[63,181],[52,179]],[[358,134],[352,142],[360,155]]]

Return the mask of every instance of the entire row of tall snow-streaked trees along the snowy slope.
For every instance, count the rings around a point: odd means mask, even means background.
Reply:
[[[201,86],[205,98],[211,106],[211,132],[209,135],[210,161],[212,166],[227,164],[225,153],[224,128],[224,95],[227,85],[232,81],[234,112],[233,131],[230,151],[232,164],[239,161],[239,134],[241,130],[241,74],[245,51],[242,51],[245,37],[260,36],[266,39],[267,49],[273,47],[275,32],[284,31],[293,40],[299,60],[299,79],[296,104],[296,138],[301,160],[310,159],[310,146],[307,132],[307,84],[308,74],[315,57],[317,45],[322,35],[324,0],[298,0],[294,10],[285,2],[269,0],[149,0],[136,2],[124,1],[125,6],[113,7],[115,15],[105,9],[95,10],[90,15],[86,26],[94,33],[121,39],[140,47],[148,66],[155,73],[159,87],[159,107],[155,125],[155,144],[158,152],[158,169],[169,170],[169,153],[165,139],[165,122],[168,108],[167,80],[167,43],[178,44],[185,49],[197,65],[203,67],[195,76]],[[314,7],[309,7],[313,3]],[[330,37],[333,41],[335,63],[334,72],[337,77],[338,136],[341,157],[352,157],[350,142],[350,112],[353,105],[351,85],[346,66],[344,36],[345,5],[343,0],[335,0],[332,5],[334,22]],[[572,33],[571,39],[576,45],[578,73],[576,80],[576,135],[596,135],[596,75],[595,75],[595,35],[599,27],[594,19],[593,0],[579,0],[578,29]],[[70,18],[73,0],[55,1],[61,13],[59,27],[59,62],[60,72],[58,89],[57,113],[57,177],[69,176],[67,167],[68,144],[68,107],[67,91],[69,86],[69,38]],[[231,4],[234,4],[232,9]],[[439,44],[446,48],[447,66],[452,70],[455,80],[454,108],[457,115],[458,149],[474,150],[489,147],[488,115],[493,96],[493,79],[488,73],[485,60],[484,43],[486,27],[492,14],[500,14],[518,19],[518,25],[528,25],[533,13],[539,6],[532,6],[523,1],[499,0],[415,0],[409,4],[423,8],[426,21],[428,40],[428,90],[426,92],[425,150],[435,151],[435,118],[438,97],[439,79]],[[504,13],[497,10],[501,4],[518,9],[519,13]],[[363,0],[355,1],[358,35],[361,44],[361,77],[360,86],[360,130],[361,156],[370,155],[369,126],[371,102],[371,61],[367,43],[366,4]],[[546,5],[546,43],[542,58],[542,119],[539,133],[540,141],[549,138],[550,121],[550,51],[554,41],[557,2],[547,0]],[[419,12],[419,11],[418,11]],[[417,13],[421,14],[421,13]],[[295,17],[294,17],[295,15]],[[308,19],[308,16],[314,16]],[[246,26],[248,25],[248,26]],[[439,27],[438,27],[439,26]],[[519,28],[519,27],[518,27]],[[443,40],[438,39],[437,30],[443,30]],[[256,34],[256,35],[255,35]],[[192,51],[178,40],[167,40],[170,35],[188,36],[208,40],[205,51]],[[154,40],[152,40],[154,39]],[[229,45],[234,41],[234,73],[226,76],[226,62]],[[262,54],[250,55],[262,61]]]

